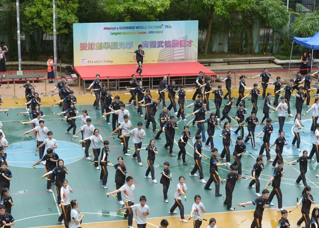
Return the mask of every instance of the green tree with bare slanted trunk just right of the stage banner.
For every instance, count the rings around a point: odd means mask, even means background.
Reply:
[[[207,55],[214,15],[229,16],[230,9],[235,11],[248,9],[255,0],[195,0],[191,2],[201,6],[207,12],[208,27],[204,47],[204,55]]]

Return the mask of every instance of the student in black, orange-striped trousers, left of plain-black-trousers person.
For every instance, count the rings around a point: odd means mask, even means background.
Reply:
[[[210,188],[210,186],[211,186],[212,182],[214,181],[214,183],[215,183],[215,197],[220,197],[220,196],[222,196],[219,193],[219,183],[220,183],[221,178],[218,175],[218,166],[226,166],[226,163],[218,162],[219,160],[217,158],[217,154],[218,154],[218,149],[213,148],[212,149],[212,156],[211,156],[211,160],[210,160],[210,168],[209,168],[210,177],[209,177],[207,183],[205,184],[204,189],[211,191],[212,188]]]

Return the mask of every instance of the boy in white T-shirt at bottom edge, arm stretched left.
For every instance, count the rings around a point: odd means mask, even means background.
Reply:
[[[139,204],[134,204],[129,207],[122,207],[117,209],[117,211],[128,210],[128,209],[132,209],[133,211],[136,211],[135,223],[137,224],[137,228],[145,228],[147,223],[146,216],[149,215],[149,208],[145,203],[146,203],[146,197],[141,196]]]

